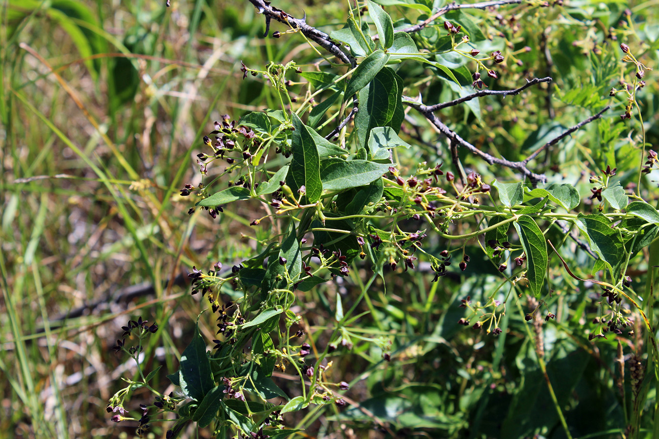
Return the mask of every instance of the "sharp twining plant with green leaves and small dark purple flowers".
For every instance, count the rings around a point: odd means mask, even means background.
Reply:
[[[530,167],[541,152],[548,152],[569,134],[602,117],[608,106],[548,139],[521,161],[488,154],[437,115],[441,109],[473,103],[483,96],[517,95],[552,81],[550,77],[534,78],[512,90],[483,90],[488,86],[480,71],[487,71],[490,80],[499,78],[501,72],[493,67],[505,61],[505,51],[495,49],[490,55],[478,57],[480,50],[474,41],[482,30],[474,27],[467,15],[460,16],[462,23],[438,21],[453,10],[485,9],[521,1],[453,4],[416,24],[395,28],[379,5],[366,1],[363,6],[368,9],[369,22],[350,7],[345,27],[329,35],[270,3],[250,1],[266,16],[267,26],[272,19],[289,26],[286,32],[275,32],[273,36],[302,34],[326,52],[321,53],[323,59],[343,70],[341,74],[307,71],[295,61],[271,62],[264,70],[242,64],[243,78],[262,78],[272,88],[279,107],[247,113],[237,121],[225,115],[215,122],[214,131],[204,136],[204,152],[197,156],[204,182],[196,186],[186,184],[181,195],[195,198],[190,214],[203,209],[212,218],[223,209],[233,208],[235,203],[258,200],[264,206],[264,214],[250,218],[251,225],[270,227],[272,233],[258,243],[258,254],[231,270],[223,270],[219,263],[210,270],[193,267],[189,275],[192,294],[205,297],[217,318],[219,335],[213,340],[213,348],[207,352],[207,341],[195,330],[181,356],[180,369],[168,376],[181,391],[161,395],[148,385],[151,374],[146,378],[140,375],[142,381],[129,382],[125,390],[111,399],[109,411],[121,411],[114,421],[127,419],[123,417],[124,403],[130,390],[146,386],[156,395],[152,406],[158,411],[177,413],[178,420],[167,431],[167,438],[176,437],[189,422],[212,426],[220,438],[232,434],[283,438],[303,430],[308,425],[306,421],[310,423],[313,418],[305,417],[299,428],[289,428],[283,416],[310,406],[346,405],[341,392],[348,390],[349,384],[334,382],[330,374],[341,357],[328,361],[339,345],[350,349],[353,339],[376,343],[382,359],[392,359],[391,337],[371,339],[350,330],[361,315],[355,312],[362,300],[374,310],[366,291],[376,276],[384,279],[387,268],[393,272],[415,270],[420,262],[429,262],[433,281],[442,281],[455,274],[456,266],[462,272],[467,270],[473,257],[467,254],[468,245],[480,247],[502,279],[485,301],[473,301],[470,296],[461,300],[465,314],[459,324],[484,328],[487,334],[498,336],[503,332],[501,319],[509,312],[510,300],[521,310],[517,299],[528,293],[544,299],[533,299],[534,307],[523,312],[527,322],[536,322],[540,313],[544,320],[556,319],[547,302],[553,291],[547,287],[546,274],[553,264],[573,279],[602,288],[596,328],[588,339],[631,334],[635,320],[643,320],[646,345],[650,346],[648,361],[654,362],[657,373],[659,353],[652,331],[652,307],[645,307],[651,301],[648,291],[652,291],[653,278],[648,276],[650,287],[644,295],[631,288],[627,275],[630,261],[654,245],[659,231],[659,212],[641,197],[641,176],[637,191],[632,192],[613,179],[617,169],[610,166],[601,175],[592,175],[590,201],[600,204],[598,212],[586,213],[577,210],[581,196],[573,185],[544,184],[547,177]],[[534,13],[548,6],[542,2],[526,5]],[[422,7],[428,9],[419,4]],[[437,38],[421,32],[440,26],[447,33],[440,36],[438,31]],[[372,34],[372,27],[377,35]],[[629,55],[627,45],[621,48],[627,54],[623,61],[636,68],[631,90],[626,85],[623,90],[627,93],[627,116],[623,119],[629,119],[631,105],[638,108],[636,90],[645,85],[637,80],[649,69]],[[442,75],[442,83],[448,84],[449,89],[457,84],[457,89],[463,90],[459,78],[445,65],[447,54],[473,63],[469,82],[479,90],[435,105],[424,105],[405,96],[413,86],[407,86],[398,74],[399,63],[418,63],[432,69],[434,75]],[[639,72],[643,74],[639,76]],[[301,88],[300,84],[304,86]],[[617,92],[612,89],[612,96]],[[409,112],[415,111],[426,119],[427,127],[449,139],[451,171],[447,169],[449,165],[440,161],[417,160],[413,166],[399,163],[398,158],[403,156],[400,150],[417,148],[414,142],[410,144],[403,138],[423,141],[422,136],[409,134],[409,129],[404,130],[408,134],[401,133]],[[331,127],[325,136],[320,134]],[[465,170],[458,148],[486,163],[513,169],[530,184],[484,181],[478,173]],[[643,171],[648,173],[658,161],[656,153],[648,150],[645,154],[645,148],[644,131],[639,154],[644,155]],[[227,176],[231,176],[228,187]],[[411,229],[411,223],[418,227]],[[581,237],[571,234],[571,229]],[[426,241],[438,239],[448,248],[424,248]],[[567,248],[567,240],[575,241],[596,259],[593,273],[600,272],[597,278],[584,279],[575,274],[560,255],[561,249]],[[317,345],[313,338],[306,339],[309,328],[300,312],[293,310],[298,301],[296,291],[308,291],[333,278],[349,276],[364,264],[372,268],[374,276],[349,306],[343,305],[337,294],[329,343]],[[227,303],[221,300],[220,292],[228,285],[242,295]],[[501,297],[500,289],[505,285],[508,293]],[[525,328],[531,335],[529,325]],[[131,328],[144,325],[138,321],[135,325],[129,323],[128,328],[125,336],[130,335]],[[146,334],[144,330],[142,333]],[[138,336],[140,341],[144,334]],[[125,344],[125,340],[119,340],[115,349],[126,351],[138,361],[136,351],[127,349]],[[542,355],[538,355],[538,364],[546,375]],[[635,366],[637,372],[642,367],[639,364]],[[299,379],[297,395],[289,395],[277,386],[272,379],[276,371]],[[640,412],[647,394],[644,385],[649,382],[637,383],[633,394],[636,418],[630,415],[631,436],[639,432]],[[552,383],[547,380],[547,384],[563,430],[571,437]],[[145,405],[140,434],[147,430],[148,409]]]

